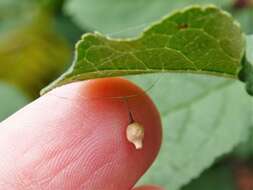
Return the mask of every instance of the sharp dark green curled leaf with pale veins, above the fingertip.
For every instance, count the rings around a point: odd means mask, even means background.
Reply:
[[[213,6],[193,6],[136,39],[85,34],[77,43],[72,67],[47,90],[77,80],[157,72],[235,78],[243,52],[244,36],[228,13]]]

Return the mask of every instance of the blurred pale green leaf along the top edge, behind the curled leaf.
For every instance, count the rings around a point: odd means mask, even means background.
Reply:
[[[68,0],[65,13],[83,29],[109,36],[135,36],[146,26],[178,8],[192,4],[226,6],[231,0]]]

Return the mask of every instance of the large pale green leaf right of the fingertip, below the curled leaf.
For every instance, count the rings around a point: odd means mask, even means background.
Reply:
[[[192,74],[128,77],[148,91],[163,122],[163,144],[140,184],[178,190],[244,142],[253,125],[253,99],[232,79]]]

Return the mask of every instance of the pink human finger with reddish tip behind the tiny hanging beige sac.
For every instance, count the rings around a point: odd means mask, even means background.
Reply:
[[[133,94],[127,103],[110,98]],[[129,110],[145,128],[141,150],[126,139]],[[65,85],[0,124],[0,189],[129,190],[155,159],[161,134],[158,111],[132,83]]]

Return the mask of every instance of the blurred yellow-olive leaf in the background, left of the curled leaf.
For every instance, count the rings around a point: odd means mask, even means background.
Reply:
[[[37,97],[71,56],[68,44],[53,30],[47,15],[35,16],[17,31],[6,30],[0,38],[0,79],[30,97]]]

